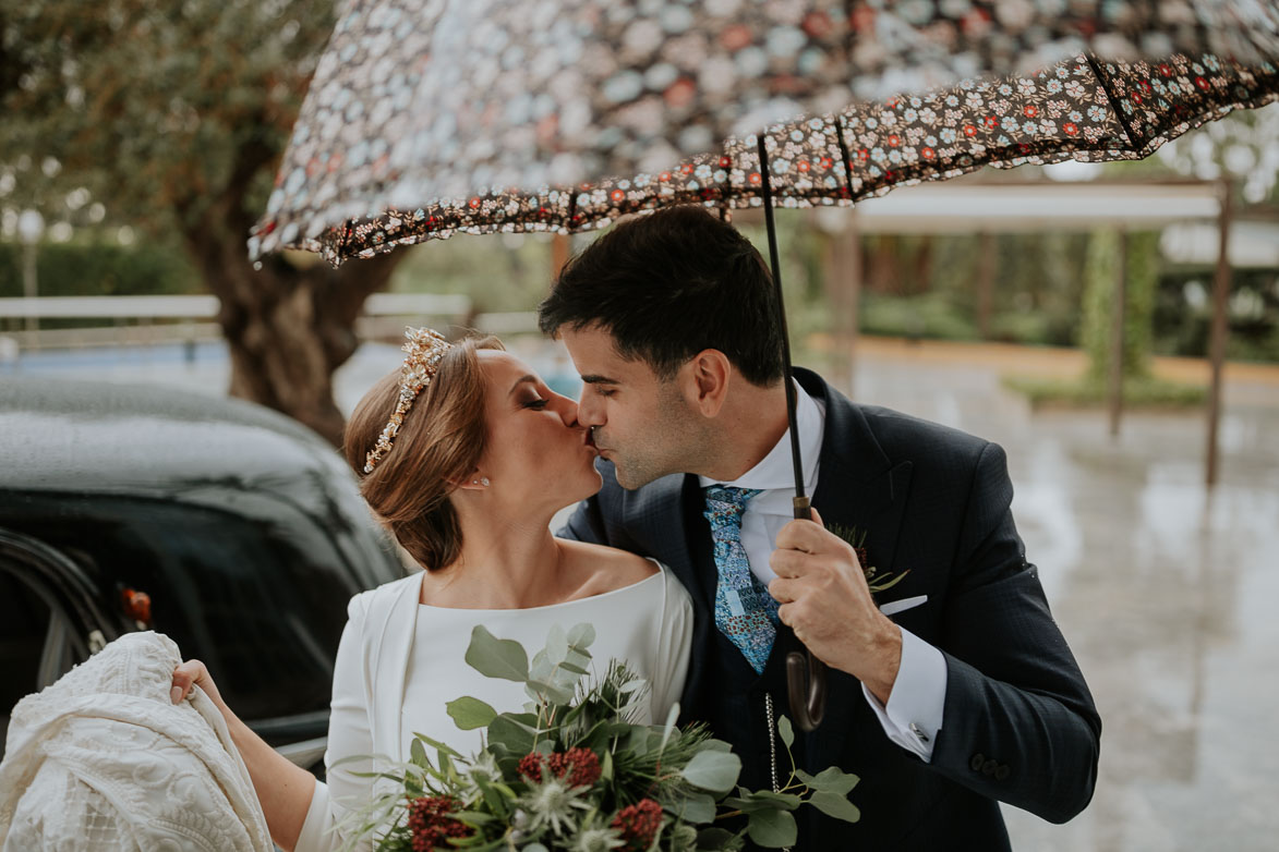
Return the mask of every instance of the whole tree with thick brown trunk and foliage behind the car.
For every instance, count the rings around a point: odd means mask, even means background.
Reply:
[[[333,372],[400,253],[333,270],[246,252],[334,15],[333,0],[4,4],[0,169],[12,193],[84,188],[109,222],[182,245],[221,303],[230,392],[336,442]],[[56,174],[12,179],[50,158]]]

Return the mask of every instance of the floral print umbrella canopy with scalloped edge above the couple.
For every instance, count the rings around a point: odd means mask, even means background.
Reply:
[[[249,250],[758,206],[760,132],[781,206],[1140,158],[1276,64],[1262,0],[350,0]]]

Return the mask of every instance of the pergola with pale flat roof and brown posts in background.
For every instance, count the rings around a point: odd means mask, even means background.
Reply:
[[[985,179],[982,179],[985,178]],[[753,211],[751,211],[753,213]],[[1113,227],[1120,234],[1179,226],[1198,229],[1211,224],[1216,272],[1212,286],[1212,322],[1209,345],[1209,388],[1205,479],[1218,479],[1218,424],[1221,415],[1221,369],[1225,359],[1227,296],[1232,259],[1242,247],[1232,245],[1237,212],[1230,185],[1225,181],[1024,181],[980,178],[900,188],[883,198],[858,202],[849,208],[815,211],[824,230],[836,239],[828,266],[828,286],[842,318],[849,356],[856,351],[857,304],[861,295],[861,243],[866,234],[972,235],[987,243],[977,272],[978,324],[989,322],[994,291],[994,238],[996,234],[1091,231]],[[737,213],[737,221],[747,218]],[[1211,238],[1210,238],[1211,239]],[[1202,241],[1202,240],[1201,240]],[[1124,245],[1127,240],[1123,240]],[[1265,253],[1264,253],[1265,254]],[[1122,255],[1123,257],[1123,255]],[[1114,327],[1109,377],[1110,430],[1117,434],[1123,410],[1123,307],[1126,263],[1117,263]]]

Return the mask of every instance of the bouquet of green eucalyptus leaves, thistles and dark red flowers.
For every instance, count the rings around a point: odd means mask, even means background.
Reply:
[[[498,713],[473,697],[450,701],[459,728],[486,728],[485,747],[464,757],[414,733],[408,763],[371,773],[393,788],[339,826],[347,848],[693,852],[737,849],[747,835],[780,848],[796,842],[792,811],[801,805],[858,819],[848,801],[856,775],[836,768],[808,775],[790,759],[778,792],[748,791],[737,786],[742,761],[729,745],[701,726],[677,728],[678,708],[665,724],[637,723],[646,683],[616,660],[592,677],[593,640],[590,625],[555,628],[530,664],[519,643],[477,626],[467,663],[486,677],[522,682],[532,700],[521,713]],[[789,756],[789,720],[778,728]],[[739,818],[735,830],[716,825],[730,818]]]

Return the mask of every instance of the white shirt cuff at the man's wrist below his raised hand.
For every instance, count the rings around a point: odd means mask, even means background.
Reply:
[[[900,627],[898,630],[902,630]],[[946,704],[946,658],[908,630],[902,630],[902,663],[897,669],[888,706],[862,685],[862,695],[888,738],[923,763],[932,761],[932,746],[941,729]]]

